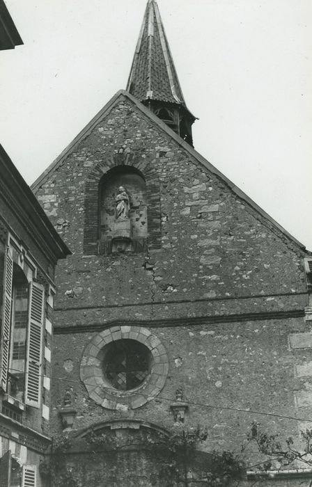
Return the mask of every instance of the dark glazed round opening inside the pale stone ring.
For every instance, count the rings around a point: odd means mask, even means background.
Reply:
[[[136,340],[117,340],[103,349],[103,371],[107,381],[118,390],[132,390],[150,374],[152,354]]]

